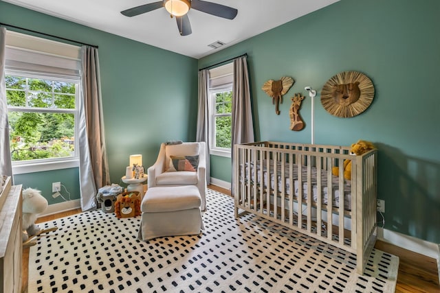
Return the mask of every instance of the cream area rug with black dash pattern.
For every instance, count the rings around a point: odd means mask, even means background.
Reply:
[[[89,211],[39,224],[28,292],[395,292],[399,259],[355,255],[255,215],[209,190],[201,235],[137,239],[140,216]]]

